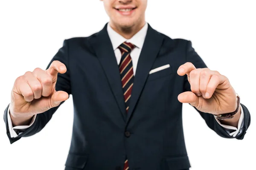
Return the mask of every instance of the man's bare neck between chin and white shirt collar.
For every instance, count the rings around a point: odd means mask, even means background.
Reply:
[[[145,23],[146,22],[144,20],[144,22],[141,22],[140,24],[136,24],[131,27],[122,27],[114,24],[111,21],[109,22],[111,28],[125,39],[131,39],[131,37],[133,37],[137,32],[141,30],[141,28],[143,28],[143,26],[145,26]]]

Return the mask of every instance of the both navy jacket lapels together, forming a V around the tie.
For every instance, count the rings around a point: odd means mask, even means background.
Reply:
[[[157,57],[161,48],[163,36],[155,31],[148,24],[148,31],[145,37],[142,51],[137,64],[136,75],[134,77],[134,86],[131,92],[131,101],[128,113],[125,109],[125,101],[122,91],[122,82],[120,78],[119,68],[116,62],[116,57],[113,51],[113,46],[107,32],[107,24],[105,27],[94,34],[90,39],[90,44],[94,49],[102,68],[105,71],[108,83],[111,87],[112,93],[115,96],[119,110],[122,113],[126,125],[128,124],[134,108],[137,104],[139,96],[145,85],[148,73]]]

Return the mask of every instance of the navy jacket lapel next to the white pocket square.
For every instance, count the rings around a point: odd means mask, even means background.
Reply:
[[[128,115],[126,118],[126,125],[128,124],[131,114],[137,104],[139,96],[145,85],[145,81],[148,77],[148,73],[157,57],[157,54],[161,48],[163,42],[163,36],[155,31],[148,24],[148,31],[145,37],[142,51],[140,53],[139,61],[137,64],[136,74],[134,77],[134,85],[131,92],[131,100],[129,104]]]

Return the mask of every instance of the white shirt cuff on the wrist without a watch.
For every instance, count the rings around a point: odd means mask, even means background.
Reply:
[[[27,128],[29,128],[30,126],[33,125],[33,123],[35,122],[35,118],[36,115],[33,116],[31,122],[29,125],[22,125],[22,126],[12,126],[12,119],[10,116],[10,108],[8,107],[8,111],[7,111],[7,122],[8,122],[8,127],[9,127],[9,131],[10,131],[10,136],[11,138],[15,138],[18,135],[20,135],[21,133],[23,133],[22,131],[26,130]],[[17,132],[16,132],[17,131]],[[21,131],[21,132],[19,132]]]

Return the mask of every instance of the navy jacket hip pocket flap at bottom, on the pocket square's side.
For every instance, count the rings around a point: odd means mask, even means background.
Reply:
[[[169,167],[169,170],[185,170],[191,167],[188,156],[167,157],[166,163]]]

